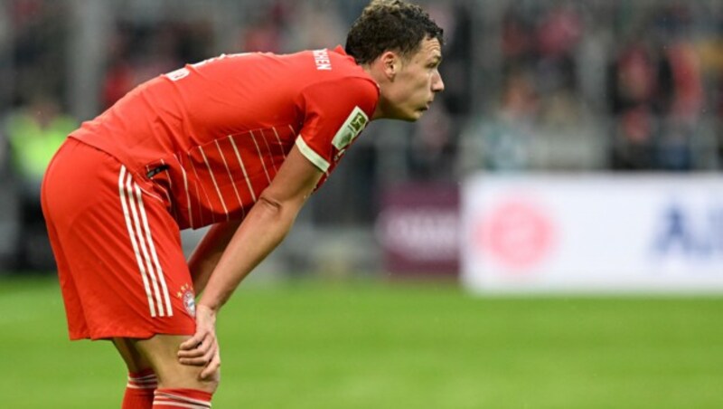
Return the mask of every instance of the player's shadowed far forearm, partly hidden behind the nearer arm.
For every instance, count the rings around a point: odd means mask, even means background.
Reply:
[[[188,261],[193,289],[196,294],[201,294],[205,289],[206,283],[211,278],[211,272],[221,260],[221,254],[223,254],[233,234],[236,233],[239,224],[240,221],[214,224],[196,246]]]

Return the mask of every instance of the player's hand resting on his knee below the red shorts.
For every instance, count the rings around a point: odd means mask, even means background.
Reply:
[[[221,367],[219,341],[216,338],[216,312],[199,305],[196,309],[196,333],[178,351],[178,360],[183,365],[204,366],[202,379],[216,376]]]

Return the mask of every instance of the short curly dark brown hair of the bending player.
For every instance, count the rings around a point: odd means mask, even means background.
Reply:
[[[401,0],[373,0],[352,24],[345,49],[357,63],[364,64],[386,51],[409,56],[427,38],[436,38],[441,44],[443,34],[418,5]]]

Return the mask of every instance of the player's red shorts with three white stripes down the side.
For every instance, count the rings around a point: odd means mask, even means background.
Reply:
[[[192,335],[178,225],[144,177],[69,138],[42,183],[70,339]]]

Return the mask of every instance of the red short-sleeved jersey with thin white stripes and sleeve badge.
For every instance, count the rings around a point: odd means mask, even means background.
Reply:
[[[296,144],[324,172],[366,127],[379,88],[341,47],[221,55],[132,90],[70,137],[150,179],[181,228],[245,216]]]

